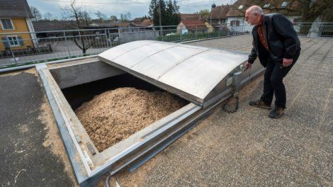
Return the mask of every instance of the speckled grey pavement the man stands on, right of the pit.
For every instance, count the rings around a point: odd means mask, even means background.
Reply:
[[[193,45],[249,52],[251,41],[240,35]],[[259,77],[242,89],[237,113],[217,108],[137,171],[116,175],[120,186],[333,186],[333,40],[301,42],[281,119],[248,105],[261,95]]]

